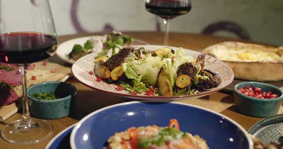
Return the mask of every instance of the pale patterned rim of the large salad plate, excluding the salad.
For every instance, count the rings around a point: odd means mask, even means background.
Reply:
[[[163,46],[141,45],[136,47],[143,47],[148,50],[156,50],[162,48]],[[179,49],[176,47],[170,47],[170,48],[172,50]],[[198,55],[201,54],[200,52],[194,50],[185,50],[185,52],[186,54],[192,55],[194,57],[198,57]],[[118,91],[117,86],[115,84],[108,84],[104,81],[97,81],[97,77],[95,75],[89,74],[89,72],[93,71],[94,69],[94,57],[96,57],[96,55],[97,55],[96,53],[91,53],[77,60],[72,66],[72,75],[75,78],[77,78],[81,83],[83,83],[85,86],[122,98],[126,97],[130,99],[140,99],[140,100],[162,99],[163,101],[178,100],[178,99],[195,99],[220,91],[221,89],[225,88],[228,84],[230,84],[234,78],[233,71],[225,63],[213,58],[212,56],[207,55],[205,57],[204,69],[219,75],[221,79],[221,84],[218,85],[217,87],[197,94],[182,95],[182,96],[146,96],[145,94],[134,95],[126,92],[125,90]]]

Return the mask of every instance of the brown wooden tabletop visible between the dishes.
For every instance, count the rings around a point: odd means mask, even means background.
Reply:
[[[88,36],[88,35],[102,35],[104,33],[92,33],[92,34],[78,34],[78,35],[68,35],[68,36],[60,36],[58,37],[59,43],[63,41]],[[132,36],[133,38],[143,40],[152,45],[162,45],[163,44],[163,33],[162,32],[125,32],[125,34]],[[229,41],[232,39],[223,38],[223,37],[215,37],[209,35],[198,35],[198,34],[188,34],[188,33],[170,33],[170,46],[174,47],[183,47],[191,50],[202,50],[203,48],[216,44],[223,41]],[[71,65],[63,62],[57,56],[50,58],[50,61],[57,62],[59,64],[69,66]],[[109,106],[115,103],[124,102],[125,99],[119,99],[116,97],[112,97],[109,95],[105,95],[101,92],[94,91],[81,83],[79,83],[76,79],[71,78],[67,82],[74,84],[78,89],[77,96],[77,105],[76,105],[76,113],[71,115],[70,117],[61,118],[57,120],[48,120],[54,126],[54,134],[51,138],[42,141],[37,144],[32,145],[15,145],[4,140],[0,139],[0,149],[43,149],[46,144],[60,131],[65,129],[66,127],[79,122],[83,117],[87,114],[100,109],[105,106]],[[235,111],[234,108],[234,99],[232,95],[218,92],[209,96],[205,96],[200,99],[185,99],[180,102],[194,104],[198,106],[202,106],[204,108],[211,109],[213,111],[219,112],[221,114],[226,115],[227,117],[233,119],[237,123],[241,124],[245,129],[248,129],[251,125],[258,122],[259,118],[252,118],[242,114],[239,114]],[[283,113],[281,108],[280,113]],[[7,123],[21,119],[21,113],[16,113],[4,122],[0,123],[0,129]]]

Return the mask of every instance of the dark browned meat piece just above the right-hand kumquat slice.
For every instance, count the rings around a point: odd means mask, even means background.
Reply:
[[[177,77],[180,75],[189,75],[192,79],[194,79],[197,71],[197,68],[194,67],[192,63],[187,62],[178,67]]]

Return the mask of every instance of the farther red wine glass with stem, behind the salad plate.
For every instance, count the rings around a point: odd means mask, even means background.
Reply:
[[[163,19],[166,25],[164,45],[168,46],[169,22],[171,19],[188,13],[192,8],[191,0],[145,0],[145,8]]]

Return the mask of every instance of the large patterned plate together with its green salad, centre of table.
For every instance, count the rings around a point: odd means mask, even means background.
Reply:
[[[194,50],[154,45],[91,53],[77,60],[72,75],[84,85],[140,100],[196,99],[225,88],[233,71]]]

